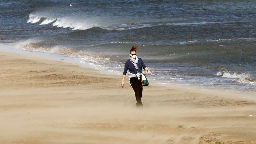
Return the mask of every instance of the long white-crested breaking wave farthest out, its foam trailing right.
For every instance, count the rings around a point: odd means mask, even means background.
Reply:
[[[146,23],[123,23],[124,21],[119,21],[115,24],[108,23],[109,20],[103,20],[104,23],[101,23],[100,19],[92,19],[92,18],[80,18],[79,16],[52,16],[52,14],[37,12],[30,13],[28,15],[27,23],[38,23],[39,25],[45,25],[52,23],[52,26],[56,26],[58,28],[71,28],[72,30],[85,30],[92,27],[100,27],[107,30],[132,30],[132,29],[141,29],[141,28],[155,28],[155,27],[164,27],[164,26],[186,26],[186,25],[214,25],[219,23],[232,23],[233,21],[227,22],[146,22]],[[218,39],[217,39],[218,40]],[[207,41],[207,40],[206,40]]]

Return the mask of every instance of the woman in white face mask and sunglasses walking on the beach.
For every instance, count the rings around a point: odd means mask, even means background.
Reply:
[[[144,62],[141,58],[138,58],[136,56],[136,50],[138,46],[133,46],[130,50],[130,59],[125,62],[124,65],[124,73],[122,77],[122,83],[121,86],[124,87],[124,78],[127,73],[127,70],[129,70],[129,81],[130,85],[134,90],[135,98],[136,98],[136,107],[142,107],[141,97],[142,97],[142,82],[141,82],[141,75],[142,75],[142,68],[145,69],[148,74],[152,74],[151,71],[146,67]]]

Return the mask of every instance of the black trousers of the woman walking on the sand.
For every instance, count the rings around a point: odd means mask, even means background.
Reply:
[[[138,77],[130,78],[130,83],[135,93],[135,98],[137,101],[136,106],[142,107],[141,97],[142,97],[143,88],[142,88],[141,76],[140,76],[140,80],[138,80]]]

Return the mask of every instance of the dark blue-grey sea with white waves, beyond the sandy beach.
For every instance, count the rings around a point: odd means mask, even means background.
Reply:
[[[256,92],[255,0],[0,0],[0,43],[120,74],[139,46],[150,81]]]

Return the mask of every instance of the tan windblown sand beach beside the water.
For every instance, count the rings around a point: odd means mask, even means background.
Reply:
[[[0,73],[0,144],[256,143],[252,94],[148,76],[136,108],[127,78],[95,69],[0,50]]]

